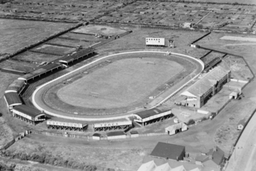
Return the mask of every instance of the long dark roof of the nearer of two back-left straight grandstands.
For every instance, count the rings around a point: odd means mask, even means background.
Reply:
[[[44,65],[41,68],[38,68],[38,69],[30,72],[29,74],[26,74],[23,77],[20,77],[19,80],[30,80],[34,77],[41,75],[41,74],[47,73],[50,70],[59,68],[60,66],[61,66],[61,64],[58,64],[58,63],[51,63],[48,65]]]

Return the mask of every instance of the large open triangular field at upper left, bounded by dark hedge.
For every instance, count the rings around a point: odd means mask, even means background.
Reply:
[[[0,52],[15,52],[70,26],[67,23],[0,19]]]

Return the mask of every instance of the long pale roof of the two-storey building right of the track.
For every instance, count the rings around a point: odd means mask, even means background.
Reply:
[[[194,85],[190,86],[181,95],[190,97],[200,97],[212,88],[218,81],[220,81],[227,73],[226,69],[221,66],[215,67],[209,71],[202,79],[198,80]]]

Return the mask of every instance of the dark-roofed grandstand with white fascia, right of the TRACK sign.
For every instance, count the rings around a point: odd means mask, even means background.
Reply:
[[[172,117],[172,111],[160,108],[153,108],[134,114],[134,121],[142,127]]]

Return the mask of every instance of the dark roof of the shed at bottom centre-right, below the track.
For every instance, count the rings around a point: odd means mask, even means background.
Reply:
[[[185,147],[182,145],[169,144],[166,142],[158,142],[154,150],[151,152],[151,156],[177,160],[177,157],[181,155],[184,149]]]

